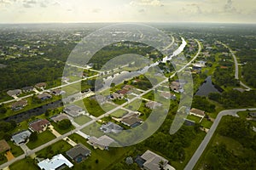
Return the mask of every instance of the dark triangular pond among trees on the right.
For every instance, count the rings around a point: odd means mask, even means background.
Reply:
[[[212,77],[209,76],[205,80],[205,82],[201,85],[201,87],[198,89],[198,91],[195,93],[195,95],[199,96],[208,96],[210,93],[217,92],[220,93],[222,92],[222,89],[218,89],[212,84]]]

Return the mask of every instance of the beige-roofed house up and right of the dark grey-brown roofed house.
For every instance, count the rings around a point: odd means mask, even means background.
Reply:
[[[92,145],[95,149],[99,148],[100,150],[108,150],[109,145],[113,142],[115,141],[109,138],[107,135],[103,135],[100,138],[92,136],[87,141],[87,143]]]

